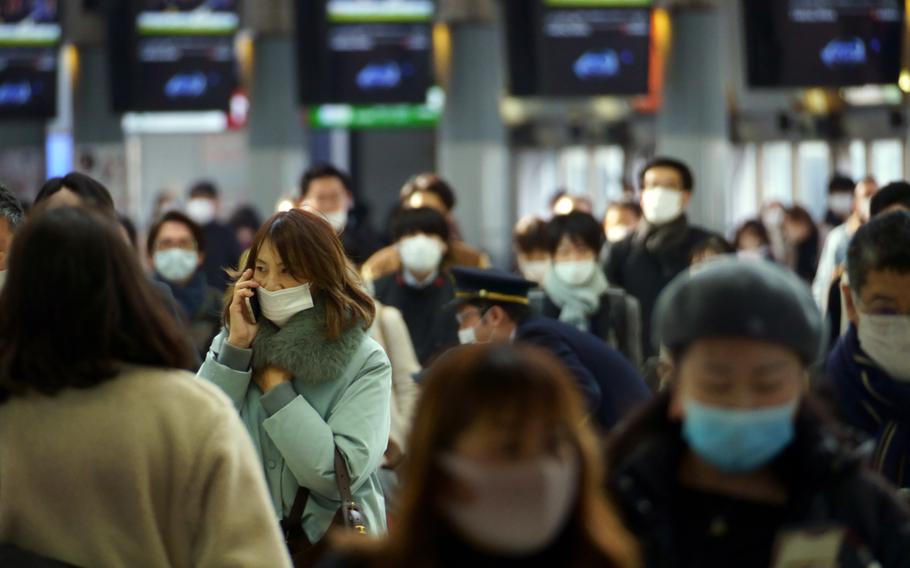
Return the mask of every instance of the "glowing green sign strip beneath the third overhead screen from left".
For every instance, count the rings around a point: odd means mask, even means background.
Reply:
[[[442,110],[427,105],[322,105],[309,112],[313,128],[433,128]]]

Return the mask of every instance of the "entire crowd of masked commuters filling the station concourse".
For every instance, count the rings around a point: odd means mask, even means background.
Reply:
[[[910,566],[910,184],[727,239],[696,181],[561,191],[510,271],[434,173],[381,231],[328,164],[141,231],[0,186],[0,565]]]

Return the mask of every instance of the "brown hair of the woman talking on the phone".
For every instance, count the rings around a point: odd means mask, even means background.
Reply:
[[[325,333],[330,341],[356,325],[363,329],[372,325],[376,315],[373,299],[364,291],[334,229],[321,215],[304,209],[276,213],[256,233],[239,270],[231,273],[235,279],[256,267],[259,251],[266,242],[275,247],[288,273],[301,282],[309,282],[313,295],[324,302]],[[228,310],[233,295],[231,285],[225,295],[225,322],[230,321]]]

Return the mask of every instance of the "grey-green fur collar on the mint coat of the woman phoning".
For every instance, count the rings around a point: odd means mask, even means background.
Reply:
[[[325,306],[316,305],[279,328],[262,319],[253,341],[253,370],[275,365],[306,384],[338,379],[344,373],[366,332],[359,325],[329,341],[325,336]]]

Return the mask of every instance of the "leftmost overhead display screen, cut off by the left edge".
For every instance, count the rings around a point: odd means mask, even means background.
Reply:
[[[0,116],[56,114],[60,35],[55,0],[0,1]]]

